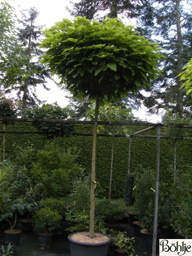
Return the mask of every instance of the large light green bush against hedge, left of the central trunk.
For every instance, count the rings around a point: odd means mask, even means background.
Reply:
[[[72,148],[65,152],[53,142],[37,151],[37,163],[34,164],[31,173],[47,196],[66,196],[69,192],[79,171],[76,155],[77,152]]]

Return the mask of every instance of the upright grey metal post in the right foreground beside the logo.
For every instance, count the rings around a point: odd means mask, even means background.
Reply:
[[[157,240],[157,217],[158,217],[158,197],[159,197],[159,164],[160,164],[160,136],[161,126],[157,126],[156,131],[156,183],[155,183],[155,207],[154,207],[154,224],[153,224],[153,248],[152,256],[156,256],[156,242]]]

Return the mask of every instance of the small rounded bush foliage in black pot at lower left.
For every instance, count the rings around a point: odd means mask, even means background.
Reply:
[[[49,207],[43,207],[36,211],[32,217],[33,224],[42,228],[45,234],[51,233],[52,230],[60,227],[61,215],[56,210]]]

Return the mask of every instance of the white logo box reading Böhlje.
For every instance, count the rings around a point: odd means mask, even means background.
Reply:
[[[159,256],[192,256],[192,239],[159,239]]]

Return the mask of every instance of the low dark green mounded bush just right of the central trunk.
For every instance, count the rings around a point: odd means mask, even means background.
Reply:
[[[101,199],[96,203],[96,215],[104,216],[105,222],[115,222],[125,216],[125,206]]]

